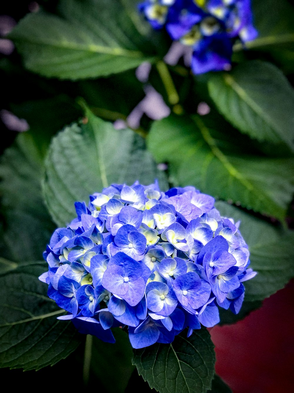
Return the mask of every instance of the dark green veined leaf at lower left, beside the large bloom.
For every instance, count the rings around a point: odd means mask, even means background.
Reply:
[[[64,310],[38,280],[44,270],[45,263],[35,263],[0,277],[0,367],[38,370],[53,365],[82,339],[71,322],[56,319]]]

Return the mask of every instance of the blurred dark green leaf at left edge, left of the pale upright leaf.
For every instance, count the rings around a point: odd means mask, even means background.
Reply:
[[[4,152],[0,163],[4,219],[0,251],[15,262],[41,260],[54,230],[41,193],[43,148],[25,132]]]

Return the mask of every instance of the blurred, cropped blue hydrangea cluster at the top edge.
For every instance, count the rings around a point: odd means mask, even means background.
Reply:
[[[145,0],[139,4],[154,29],[193,48],[195,74],[229,70],[232,45],[257,37],[250,0]]]

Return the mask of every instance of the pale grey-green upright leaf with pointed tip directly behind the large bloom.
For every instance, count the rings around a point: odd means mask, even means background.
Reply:
[[[86,114],[87,124],[73,124],[53,138],[45,162],[45,200],[61,226],[76,217],[74,202],[87,202],[90,194],[113,183],[151,184],[157,178],[162,190],[168,187],[141,137],[114,129],[89,110]]]

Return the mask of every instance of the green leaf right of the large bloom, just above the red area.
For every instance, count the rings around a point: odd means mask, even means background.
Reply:
[[[225,202],[216,202],[222,216],[241,221],[240,232],[250,251],[250,267],[258,274],[245,281],[245,301],[263,300],[294,277],[294,231],[282,230]]]

